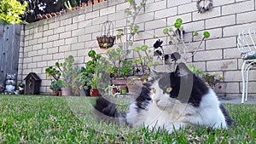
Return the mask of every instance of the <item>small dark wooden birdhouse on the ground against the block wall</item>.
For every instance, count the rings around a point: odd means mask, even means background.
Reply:
[[[35,72],[30,72],[24,78],[25,83],[25,94],[26,95],[39,95],[41,79]]]

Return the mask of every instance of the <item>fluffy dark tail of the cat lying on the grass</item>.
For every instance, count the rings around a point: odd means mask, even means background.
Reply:
[[[127,124],[126,114],[117,111],[115,104],[100,97],[96,100],[95,113],[96,117],[101,122],[114,124]]]

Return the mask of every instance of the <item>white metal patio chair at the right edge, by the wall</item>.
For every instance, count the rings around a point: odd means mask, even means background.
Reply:
[[[254,41],[256,42],[256,27],[243,30],[237,37],[237,48],[240,50],[241,59],[243,60],[241,66],[241,103],[247,101],[249,71],[253,66],[256,66],[256,45]]]

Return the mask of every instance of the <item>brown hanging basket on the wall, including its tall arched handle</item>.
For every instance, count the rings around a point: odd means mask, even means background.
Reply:
[[[104,22],[102,25],[101,36],[98,36],[96,38],[100,48],[108,49],[112,47],[115,40],[115,36],[113,36],[113,23],[108,20]]]

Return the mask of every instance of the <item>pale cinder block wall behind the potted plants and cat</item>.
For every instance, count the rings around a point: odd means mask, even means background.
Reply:
[[[68,55],[73,55],[76,64],[83,66],[84,61],[89,60],[87,52],[90,48],[104,54],[106,49],[100,49],[96,42],[102,23],[112,20],[114,29],[124,28],[124,11],[128,7],[125,0],[108,0],[26,25],[21,37],[18,80],[29,72],[36,72],[43,80],[41,94],[49,94],[50,80],[46,78],[45,68],[54,66],[56,61],[62,62]],[[224,74],[223,88],[217,89],[219,95],[241,95],[242,61],[236,48],[236,37],[242,29],[256,26],[255,7],[255,0],[213,0],[213,9],[199,14],[196,0],[148,0],[146,9],[137,16],[140,33],[134,37],[134,45],[152,46],[160,38],[165,42],[166,52],[172,53],[162,31],[166,26],[172,26],[177,18],[182,18],[185,37],[192,41],[191,47],[198,43],[193,41],[192,32],[211,32],[211,37],[202,43],[192,59],[195,66],[203,71]],[[255,95],[256,70],[250,74],[249,93]]]

